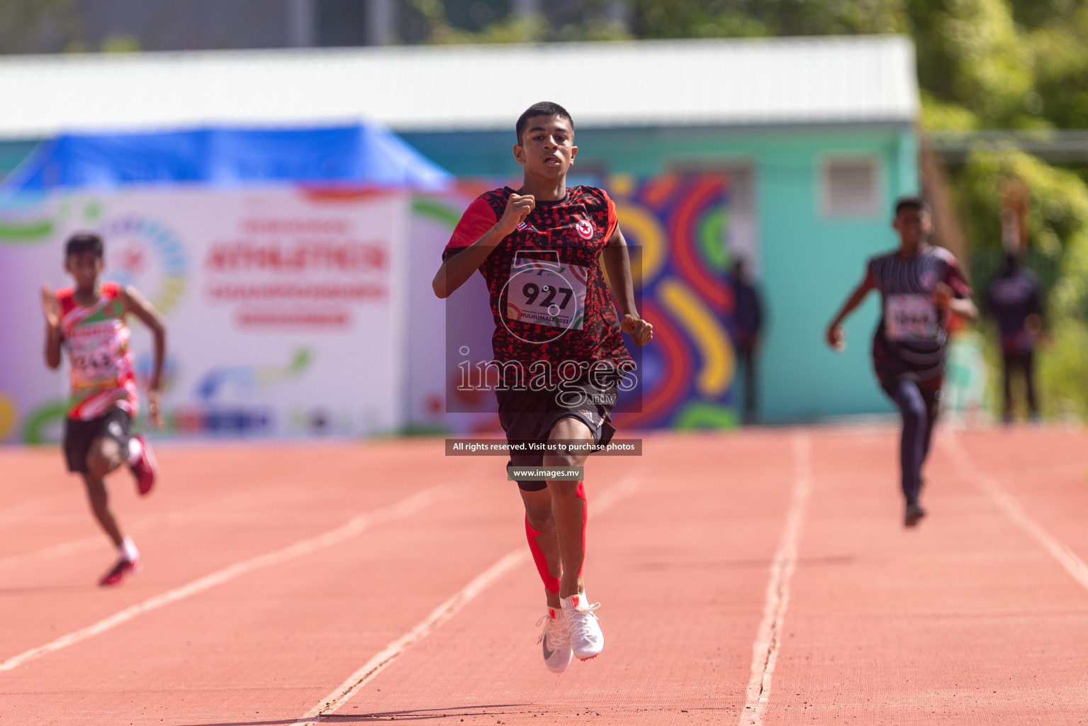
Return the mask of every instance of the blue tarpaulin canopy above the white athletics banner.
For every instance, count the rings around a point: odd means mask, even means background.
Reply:
[[[3,181],[0,190],[160,183],[238,186],[275,181],[435,189],[450,179],[392,131],[363,123],[65,134],[44,143]]]

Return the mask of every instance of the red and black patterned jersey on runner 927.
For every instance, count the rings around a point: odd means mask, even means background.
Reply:
[[[482,237],[506,210],[510,187],[469,206],[443,259]],[[487,282],[495,360],[630,360],[599,257],[616,230],[616,206],[593,186],[537,201],[480,264]]]

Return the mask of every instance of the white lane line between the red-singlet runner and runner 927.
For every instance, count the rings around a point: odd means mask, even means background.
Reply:
[[[417,492],[411,496],[405,497],[396,504],[373,509],[372,512],[363,512],[336,529],[331,529],[323,534],[299,540],[298,542],[295,542],[286,547],[234,563],[223,569],[193,580],[187,585],[159,593],[148,598],[144,602],[136,603],[135,605],[129,605],[128,607],[119,611],[113,615],[95,623],[94,625],[63,635],[57,640],[46,643],[45,645],[32,648],[30,650],[24,651],[18,655],[13,655],[3,663],[0,663],[0,672],[17,668],[27,661],[33,661],[41,657],[42,655],[67,648],[69,645],[87,640],[88,638],[92,638],[94,636],[106,632],[107,630],[112,630],[119,625],[127,623],[128,620],[132,620],[133,618],[145,613],[149,613],[153,610],[163,607],[164,605],[175,603],[178,600],[190,598],[199,592],[213,588],[217,585],[222,585],[258,569],[263,569],[264,567],[277,565],[280,563],[295,559],[297,557],[331,547],[335,544],[339,544],[341,542],[359,534],[370,527],[394,519],[399,519],[401,517],[407,517],[410,514],[419,512],[423,507],[434,504],[442,499],[448,499],[452,495],[452,488],[447,484],[431,487]]]

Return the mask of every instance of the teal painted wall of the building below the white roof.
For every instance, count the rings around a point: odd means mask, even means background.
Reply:
[[[508,133],[401,134],[458,175],[516,175]],[[848,347],[836,354],[824,329],[865,259],[894,248],[891,207],[917,190],[917,139],[903,126],[781,130],[622,128],[578,132],[576,170],[647,175],[684,161],[746,161],[755,172],[762,286],[768,329],[759,360],[759,414],[767,422],[887,413],[869,362],[879,317],[876,295],[846,323]],[[820,163],[828,156],[877,156],[882,211],[828,219],[819,208]],[[622,219],[620,220],[622,224]]]

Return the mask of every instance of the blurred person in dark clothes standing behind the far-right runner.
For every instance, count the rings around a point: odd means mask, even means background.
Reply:
[[[1001,273],[986,293],[986,309],[997,319],[1001,336],[1005,393],[1002,419],[1005,423],[1013,420],[1012,376],[1018,368],[1024,374],[1028,413],[1033,421],[1038,421],[1034,357],[1042,330],[1042,292],[1035,274],[1021,266],[1018,255],[1005,255]]]

